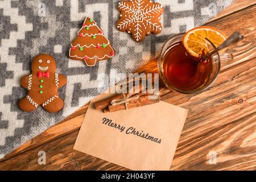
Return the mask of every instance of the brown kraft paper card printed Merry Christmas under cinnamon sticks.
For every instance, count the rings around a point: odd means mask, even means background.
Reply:
[[[169,170],[188,110],[157,104],[103,113],[90,102],[74,149],[132,170]]]

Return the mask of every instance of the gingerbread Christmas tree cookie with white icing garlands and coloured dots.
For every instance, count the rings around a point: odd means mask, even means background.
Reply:
[[[86,17],[82,28],[77,32],[77,38],[71,44],[69,57],[85,61],[86,65],[92,67],[97,61],[110,59],[114,54],[111,43],[97,23]]]

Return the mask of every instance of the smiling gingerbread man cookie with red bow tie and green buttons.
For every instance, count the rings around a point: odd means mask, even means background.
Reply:
[[[56,73],[56,63],[50,55],[38,55],[31,64],[32,73],[22,77],[20,85],[28,90],[28,94],[19,100],[23,111],[31,112],[42,105],[49,113],[55,113],[64,106],[58,89],[67,84],[64,75]]]

